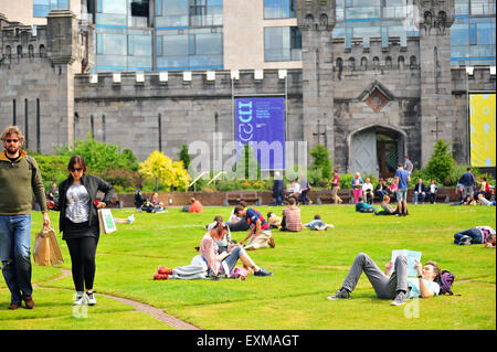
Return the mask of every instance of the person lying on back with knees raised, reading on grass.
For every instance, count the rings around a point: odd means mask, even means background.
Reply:
[[[367,254],[360,253],[353,260],[341,288],[327,299],[350,299],[350,294],[356,288],[362,271],[374,288],[378,298],[393,299],[391,306],[405,305],[409,298],[430,298],[438,295],[440,285],[434,280],[441,270],[435,262],[426,262],[423,267],[416,260],[414,268],[417,269],[417,278],[408,277],[408,258],[404,255],[395,258],[395,270],[390,275],[392,264],[390,260],[382,273]]]

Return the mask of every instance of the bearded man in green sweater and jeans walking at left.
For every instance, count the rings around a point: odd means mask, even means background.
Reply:
[[[11,292],[9,309],[32,309],[31,285],[31,209],[33,190],[43,212],[43,226],[50,226],[43,182],[33,158],[21,150],[24,137],[17,126],[1,135],[4,150],[0,153],[0,260]]]

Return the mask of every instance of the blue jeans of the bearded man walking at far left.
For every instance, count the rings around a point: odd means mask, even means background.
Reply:
[[[0,215],[0,260],[13,303],[33,294],[30,247],[31,215]]]

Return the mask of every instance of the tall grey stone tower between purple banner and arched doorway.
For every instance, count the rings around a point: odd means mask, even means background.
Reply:
[[[334,89],[331,32],[335,0],[298,0],[297,25],[302,32],[303,140],[308,148],[326,146],[334,156]]]

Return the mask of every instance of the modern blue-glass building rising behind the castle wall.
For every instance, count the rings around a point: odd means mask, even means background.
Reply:
[[[222,70],[225,67],[223,0],[30,0],[33,17],[66,9],[81,1],[82,12],[96,26],[94,72]],[[260,53],[265,63],[302,60],[300,31],[278,21],[296,18],[296,0],[245,0],[263,7]],[[351,47],[360,39],[389,45],[389,38],[408,46],[419,36],[413,21],[413,0],[336,0],[337,24],[332,32]],[[87,9],[87,10],[85,10]],[[230,7],[233,9],[233,7]],[[455,0],[456,20],[451,28],[452,65],[496,64],[496,0]],[[276,24],[273,24],[276,23]],[[243,60],[243,58],[242,58]],[[247,67],[250,68],[250,67]]]

